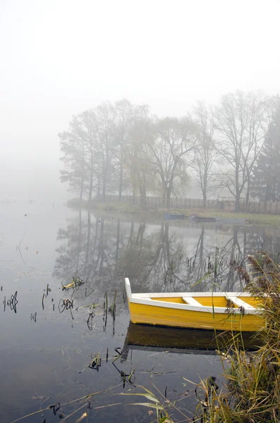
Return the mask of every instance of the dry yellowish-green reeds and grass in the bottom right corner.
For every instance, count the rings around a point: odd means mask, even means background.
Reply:
[[[226,386],[200,384],[197,422],[280,422],[280,271],[264,252],[249,256],[248,290],[260,299],[266,324],[257,333],[260,348],[246,353],[234,341],[226,352]],[[241,271],[241,270],[240,270]],[[225,358],[226,357],[226,358]],[[224,363],[225,364],[225,363]]]

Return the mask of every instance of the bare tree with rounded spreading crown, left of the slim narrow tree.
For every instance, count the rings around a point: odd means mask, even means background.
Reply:
[[[170,207],[171,193],[186,181],[188,153],[196,140],[195,123],[188,118],[157,121],[155,139],[150,142],[155,177],[162,190],[163,205]]]

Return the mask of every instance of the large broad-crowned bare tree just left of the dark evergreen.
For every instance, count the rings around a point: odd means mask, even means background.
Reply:
[[[214,108],[221,184],[235,197],[236,212],[246,188],[249,199],[253,166],[264,142],[265,104],[262,93],[238,91],[224,95]]]

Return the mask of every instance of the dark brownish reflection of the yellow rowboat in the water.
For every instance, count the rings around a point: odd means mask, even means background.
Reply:
[[[245,332],[235,337],[246,350],[254,350],[260,341],[254,333]],[[147,326],[130,322],[126,341],[123,345],[122,358],[126,360],[130,350],[168,351],[184,354],[216,354],[217,348],[223,348],[231,340],[230,332],[201,331],[161,326]]]

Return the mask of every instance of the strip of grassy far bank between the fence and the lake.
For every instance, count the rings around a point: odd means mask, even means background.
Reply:
[[[69,207],[83,207],[87,208],[87,201],[73,199],[68,201]],[[220,209],[163,209],[158,207],[140,207],[133,204],[124,202],[92,202],[91,209],[97,209],[104,212],[114,212],[119,214],[132,214],[135,216],[150,217],[154,219],[162,219],[165,213],[172,214],[185,214],[185,216],[191,216],[197,214],[197,216],[205,217],[220,217],[228,219],[245,219],[246,223],[254,223],[258,225],[274,225],[280,226],[280,215],[274,214],[252,214],[252,213],[233,213],[224,212]]]

